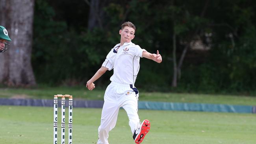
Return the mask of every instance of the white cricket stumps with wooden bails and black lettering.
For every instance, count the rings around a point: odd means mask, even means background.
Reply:
[[[73,98],[70,95],[54,95],[54,135],[53,143],[57,144],[58,135],[58,97],[61,97],[61,144],[65,144],[65,98],[69,98],[69,143],[72,144],[72,109]]]

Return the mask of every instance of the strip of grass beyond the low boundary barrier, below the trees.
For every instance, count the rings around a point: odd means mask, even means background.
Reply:
[[[89,91],[86,87],[39,87],[37,89],[0,88],[0,98],[34,98],[52,99],[54,94],[70,94],[75,99],[103,100],[105,89]],[[233,105],[256,105],[256,96],[236,96],[218,94],[187,94],[143,92],[139,93],[140,101],[215,103]]]

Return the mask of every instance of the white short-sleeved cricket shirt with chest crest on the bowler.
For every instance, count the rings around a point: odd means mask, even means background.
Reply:
[[[122,46],[120,43],[115,45],[102,64],[108,70],[114,68],[110,81],[134,85],[139,72],[139,59],[143,51],[146,50],[132,42],[125,42]]]

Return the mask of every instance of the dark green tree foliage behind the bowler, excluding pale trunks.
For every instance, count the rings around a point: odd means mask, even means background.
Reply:
[[[91,7],[86,2],[92,1],[63,0],[64,6],[59,1],[35,1],[32,63],[37,81],[85,82],[119,43],[122,22],[131,21],[137,27],[133,42],[151,53],[160,50],[163,57],[160,65],[141,59],[137,87],[197,92],[255,89],[255,1],[209,0],[205,8],[204,0],[109,0],[97,9],[101,24],[88,29]],[[174,31],[176,59],[186,46],[188,50],[178,86],[172,89]],[[210,50],[193,50],[191,42],[196,41]],[[96,83],[108,83],[110,75]]]

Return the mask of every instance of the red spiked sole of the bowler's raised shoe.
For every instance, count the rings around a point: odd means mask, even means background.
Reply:
[[[148,132],[150,130],[149,120],[143,120],[140,129],[141,129],[141,132],[137,135],[137,137],[134,140],[136,144],[141,144],[141,142],[144,140],[145,136],[148,134]]]

